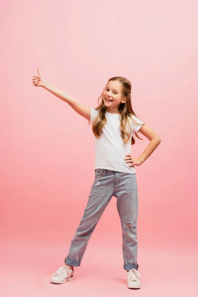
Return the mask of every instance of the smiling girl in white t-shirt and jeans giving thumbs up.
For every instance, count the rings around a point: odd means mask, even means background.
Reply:
[[[127,287],[140,289],[141,275],[137,263],[138,187],[134,165],[143,164],[161,140],[134,113],[131,106],[131,82],[126,78],[110,78],[99,97],[99,106],[93,109],[51,85],[44,79],[39,68],[37,71],[38,75],[33,76],[34,86],[43,87],[67,102],[92,124],[95,135],[95,181],[84,215],[64,260],[65,265],[51,275],[50,282],[63,284],[73,280],[74,266],[80,266],[88,241],[110,199],[115,196],[122,226]],[[130,151],[131,145],[135,144],[133,134],[142,140],[138,131],[150,143],[139,158],[135,158]]]

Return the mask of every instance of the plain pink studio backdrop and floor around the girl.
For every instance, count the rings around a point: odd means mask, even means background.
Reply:
[[[161,138],[136,166],[137,294],[197,295],[197,11],[196,0],[1,3],[3,297],[133,294],[115,197],[74,267],[75,280],[49,283],[64,265],[94,182],[94,135],[67,103],[33,86],[37,67],[93,108],[110,77],[131,81],[135,113]],[[144,141],[135,138],[131,147],[136,157],[149,143],[139,135]]]

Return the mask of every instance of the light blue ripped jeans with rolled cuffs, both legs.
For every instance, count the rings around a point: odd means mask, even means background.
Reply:
[[[136,173],[123,173],[109,169],[95,169],[95,181],[84,215],[65,258],[65,264],[80,266],[88,241],[112,196],[117,198],[116,205],[122,227],[124,269],[138,269]]]

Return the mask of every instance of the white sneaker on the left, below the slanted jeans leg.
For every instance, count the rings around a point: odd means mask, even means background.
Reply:
[[[56,272],[51,275],[50,283],[64,284],[67,281],[71,281],[74,278],[73,270],[67,265],[60,266]]]

